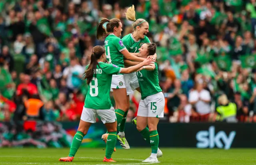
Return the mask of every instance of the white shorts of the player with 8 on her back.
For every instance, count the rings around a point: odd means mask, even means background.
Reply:
[[[114,107],[111,107],[110,109],[90,109],[84,107],[81,120],[88,123],[96,123],[97,115],[100,116],[103,124],[114,123],[116,121],[116,113]]]

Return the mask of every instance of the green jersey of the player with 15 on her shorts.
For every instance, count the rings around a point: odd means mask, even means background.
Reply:
[[[145,99],[147,96],[154,95],[162,89],[159,86],[158,80],[158,66],[155,62],[156,68],[152,71],[141,70],[137,72],[137,78],[140,85],[141,99]]]

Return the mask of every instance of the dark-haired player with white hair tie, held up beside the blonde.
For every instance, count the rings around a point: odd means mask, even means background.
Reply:
[[[108,20],[107,18],[102,18],[97,26],[98,39],[106,36],[106,34],[109,34],[104,42],[108,62],[121,68],[124,67],[124,58],[136,62],[143,62],[144,58],[134,56],[133,54],[130,54],[128,52],[122,40],[118,38],[119,36],[121,36],[121,32],[122,23],[117,18],[113,18],[111,20]],[[111,89],[113,91],[113,96],[116,103],[116,121],[119,127],[125,112],[129,109],[128,103],[130,101],[126,99],[126,84],[124,82],[123,74],[113,75]],[[105,142],[107,136],[108,134],[102,135],[102,139],[104,139]],[[124,142],[124,145],[122,145],[122,147],[124,147],[125,149],[130,149],[127,141],[126,143]]]

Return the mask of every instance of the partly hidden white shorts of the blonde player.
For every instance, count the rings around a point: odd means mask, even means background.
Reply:
[[[124,74],[127,95],[132,94],[136,88],[140,87],[136,73]]]

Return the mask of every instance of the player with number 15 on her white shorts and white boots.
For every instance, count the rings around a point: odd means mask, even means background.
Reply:
[[[148,58],[155,53],[156,44],[146,43],[139,48],[139,56],[142,58]],[[137,129],[150,143],[152,150],[150,157],[143,162],[158,162],[157,157],[162,156],[162,151],[158,149],[157,125],[159,118],[164,117],[164,94],[159,86],[157,64],[154,63],[143,68],[137,72],[142,97],[137,114]]]

